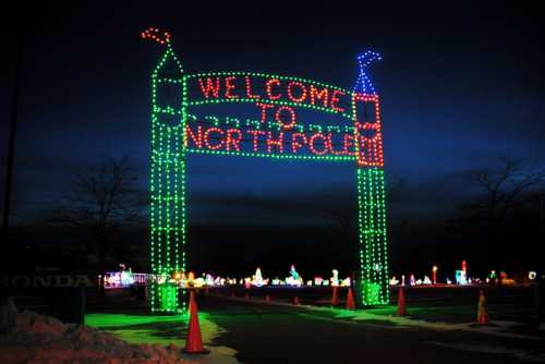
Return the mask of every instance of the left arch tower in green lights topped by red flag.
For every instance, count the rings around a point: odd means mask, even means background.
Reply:
[[[149,28],[142,37],[165,46],[152,74],[150,308],[178,312],[184,307],[178,278],[185,270],[185,84],[170,35]]]

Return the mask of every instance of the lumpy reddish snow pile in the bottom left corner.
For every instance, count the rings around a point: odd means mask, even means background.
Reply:
[[[95,328],[65,325],[33,312],[15,314],[15,325],[0,335],[0,363],[189,363],[172,343],[129,344]]]

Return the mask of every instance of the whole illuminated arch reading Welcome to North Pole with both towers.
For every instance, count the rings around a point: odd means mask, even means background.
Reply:
[[[152,282],[152,310],[183,308],[169,281],[185,271],[189,154],[353,162],[361,263],[355,287],[363,305],[388,303],[380,104],[366,72],[379,56],[359,57],[360,74],[349,90],[275,74],[186,74],[167,32],[149,28],[142,37],[165,46],[152,74],[150,262],[159,277]],[[246,118],[239,116],[242,105]],[[199,111],[210,108],[218,113]]]

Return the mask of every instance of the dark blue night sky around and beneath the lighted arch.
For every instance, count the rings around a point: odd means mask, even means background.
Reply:
[[[160,53],[159,46],[138,37],[148,26],[172,34],[189,73],[262,71],[351,88],[356,56],[382,52],[372,78],[382,96],[385,170],[390,179],[405,180],[395,204],[404,218],[448,218],[470,193],[455,174],[487,166],[498,155],[543,160],[544,39],[537,5],[261,7],[38,2],[27,12],[15,151],[20,221],[51,207],[74,171],[110,157],[130,156],[147,187],[149,76]],[[16,22],[9,12],[2,16],[5,145]],[[323,219],[319,213],[290,206],[326,206],[331,199],[349,206],[355,196],[353,167],[194,156],[190,219],[315,223]]]

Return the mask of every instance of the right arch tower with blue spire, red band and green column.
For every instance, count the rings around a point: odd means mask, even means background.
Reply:
[[[371,63],[380,59],[374,51],[358,57],[360,74],[352,94],[360,243],[360,275],[355,289],[358,303],[364,306],[389,303],[380,107],[367,71]]]

